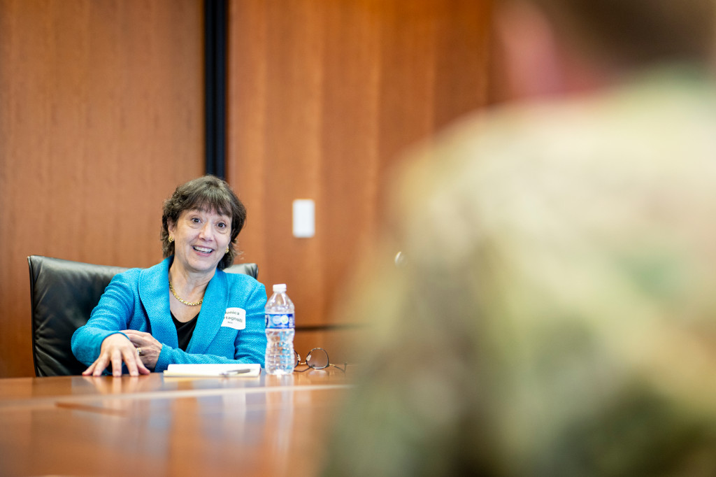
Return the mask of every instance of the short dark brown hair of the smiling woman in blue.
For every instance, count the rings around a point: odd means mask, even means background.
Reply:
[[[183,211],[205,210],[231,217],[231,241],[228,254],[224,255],[216,268],[225,269],[233,264],[240,254],[236,249],[236,237],[246,221],[246,207],[238,200],[225,180],[213,175],[190,180],[178,186],[172,196],[164,201],[162,214],[162,253],[165,257],[174,254],[174,242],[169,241],[169,224],[176,224]]]

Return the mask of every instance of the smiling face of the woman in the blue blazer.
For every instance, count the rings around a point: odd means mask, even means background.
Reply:
[[[174,263],[189,272],[213,273],[231,241],[231,217],[214,211],[183,211],[167,228],[174,237]]]

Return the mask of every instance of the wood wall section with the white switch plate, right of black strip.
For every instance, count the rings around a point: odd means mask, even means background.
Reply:
[[[488,0],[231,0],[228,180],[248,208],[243,260],[288,284],[298,327],[335,324],[369,243],[385,170],[407,145],[488,101]],[[316,201],[294,238],[291,203]],[[346,332],[304,331],[331,349]],[[332,348],[331,348],[332,347]]]

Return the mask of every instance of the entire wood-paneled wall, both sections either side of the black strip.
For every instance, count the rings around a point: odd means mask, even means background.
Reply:
[[[240,259],[329,348],[400,151],[488,98],[488,0],[230,0],[228,181]],[[203,2],[0,0],[0,377],[32,375],[26,256],[160,259],[160,206],[203,173]],[[316,201],[316,236],[291,202]]]

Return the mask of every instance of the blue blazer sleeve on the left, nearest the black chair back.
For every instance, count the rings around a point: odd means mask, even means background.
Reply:
[[[106,337],[121,333],[120,329],[129,328],[130,317],[135,308],[137,277],[138,270],[134,269],[115,275],[97,307],[89,315],[87,324],[74,331],[72,353],[79,362],[91,365],[100,357],[102,341]]]

